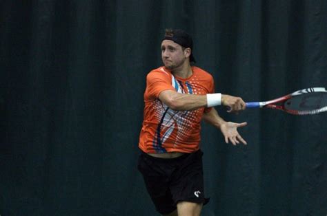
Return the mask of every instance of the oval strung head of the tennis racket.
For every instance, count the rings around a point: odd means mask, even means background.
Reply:
[[[284,101],[282,109],[293,115],[313,115],[327,111],[327,91],[315,87],[295,91]]]

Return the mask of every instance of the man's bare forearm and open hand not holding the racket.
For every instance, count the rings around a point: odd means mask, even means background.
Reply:
[[[217,110],[213,107],[209,112],[204,113],[202,120],[210,123],[210,125],[217,127],[217,129],[220,129],[221,133],[224,135],[226,143],[230,141],[233,145],[239,144],[240,142],[246,144],[246,141],[241,137],[241,135],[239,135],[237,128],[246,126],[247,122],[226,122],[219,116]]]

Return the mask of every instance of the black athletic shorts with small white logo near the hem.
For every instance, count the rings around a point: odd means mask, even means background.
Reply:
[[[204,198],[202,155],[199,150],[164,159],[141,152],[138,169],[159,213],[172,213],[181,201],[208,203],[209,199]]]

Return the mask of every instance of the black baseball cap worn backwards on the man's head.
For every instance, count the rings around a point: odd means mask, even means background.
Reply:
[[[195,58],[193,56],[193,40],[190,34],[186,33],[184,30],[166,30],[166,34],[164,40],[170,40],[174,41],[175,43],[178,43],[182,47],[190,48],[191,54],[190,54],[190,62],[195,63]]]

